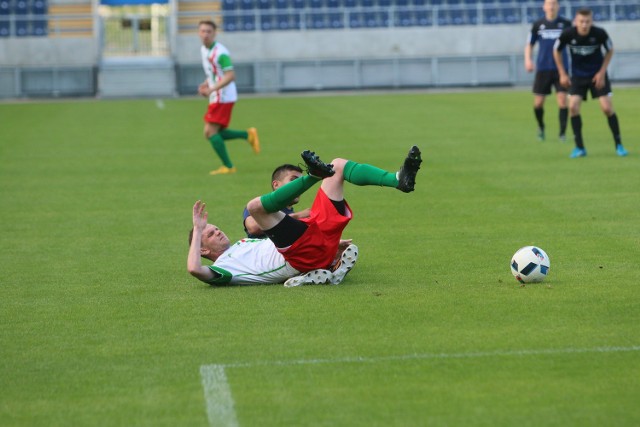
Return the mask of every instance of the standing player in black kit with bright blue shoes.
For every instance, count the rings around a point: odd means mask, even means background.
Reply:
[[[576,147],[570,157],[584,157],[587,150],[582,140],[582,117],[580,105],[587,100],[587,92],[591,98],[597,98],[602,112],[607,116],[609,129],[613,134],[618,156],[626,156],[627,150],[622,146],[618,116],[611,102],[611,83],[607,75],[607,67],[613,57],[613,43],[607,32],[593,25],[593,13],[590,9],[580,8],[576,12],[575,27],[562,32],[556,41],[553,57],[560,73],[560,83],[569,87],[569,115]],[[569,47],[571,55],[571,78],[562,63],[560,52]],[[603,56],[602,51],[606,52]]]

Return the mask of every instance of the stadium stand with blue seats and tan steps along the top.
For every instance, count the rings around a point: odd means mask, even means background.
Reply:
[[[640,20],[637,0],[563,1],[573,16],[589,7],[596,22]],[[384,27],[529,24],[542,15],[540,0],[179,0],[178,32],[195,31],[203,16],[224,31],[287,31]],[[0,0],[0,38],[90,36],[91,2]]]

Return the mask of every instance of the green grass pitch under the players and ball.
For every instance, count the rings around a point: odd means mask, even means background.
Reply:
[[[575,160],[525,89],[244,97],[263,152],[230,142],[217,177],[202,99],[0,104],[0,425],[640,425],[639,97],[615,88],[627,158],[590,100]],[[186,272],[195,200],[238,239],[302,150],[396,170],[413,144],[414,193],[346,188],[341,285]],[[542,284],[509,271],[525,245]]]

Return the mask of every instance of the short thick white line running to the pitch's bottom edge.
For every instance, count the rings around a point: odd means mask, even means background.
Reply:
[[[237,427],[238,420],[233,408],[231,388],[222,365],[202,365],[200,367],[204,400],[207,405],[209,425]]]

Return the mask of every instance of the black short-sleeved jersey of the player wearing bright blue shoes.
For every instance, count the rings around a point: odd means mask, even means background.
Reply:
[[[555,49],[560,51],[565,46],[568,46],[571,55],[571,75],[593,77],[604,62],[603,50],[611,50],[613,43],[603,28],[591,27],[589,34],[581,36],[576,27],[571,27],[560,34]]]

